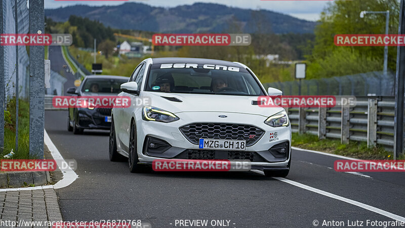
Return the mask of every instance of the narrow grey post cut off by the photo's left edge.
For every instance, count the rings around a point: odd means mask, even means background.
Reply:
[[[3,23],[3,0],[0,0],[0,34],[4,33]],[[0,153],[3,153],[4,147],[4,106],[6,106],[4,79],[4,46],[0,46]]]

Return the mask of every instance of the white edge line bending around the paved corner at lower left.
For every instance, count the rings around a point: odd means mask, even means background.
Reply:
[[[62,155],[59,153],[59,150],[56,148],[55,144],[52,142],[51,138],[49,137],[49,135],[45,129],[44,129],[44,142],[48,146],[48,149],[51,151],[51,155],[54,158],[54,160],[56,161],[56,164],[58,165],[59,169],[61,169],[62,163],[66,164],[66,162],[63,159]],[[62,187],[66,187],[69,184],[73,183],[73,181],[75,181],[78,178],[77,174],[70,167],[68,167],[67,169],[65,168],[64,171],[62,172],[62,174],[63,174],[62,179],[59,180],[54,185],[44,185],[44,186],[36,186],[36,187],[0,188],[0,192],[31,191],[31,190],[45,189],[45,188],[62,188]]]

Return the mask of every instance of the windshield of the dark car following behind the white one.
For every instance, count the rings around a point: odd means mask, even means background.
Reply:
[[[82,92],[85,93],[119,93],[120,85],[128,82],[125,79],[87,79]]]

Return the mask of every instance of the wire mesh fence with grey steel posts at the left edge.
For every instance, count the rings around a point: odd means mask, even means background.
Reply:
[[[43,1],[0,0],[0,34],[10,37],[45,34]],[[12,43],[11,38],[9,41]],[[14,41],[17,43],[17,38]],[[44,155],[44,57],[44,46],[0,46],[0,155],[6,145],[7,150],[15,152],[25,153],[29,149],[31,157]],[[16,114],[11,117],[11,113]]]

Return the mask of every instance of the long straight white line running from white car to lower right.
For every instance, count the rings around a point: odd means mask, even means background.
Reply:
[[[260,170],[251,170],[251,171],[255,172],[255,173],[264,174],[263,171],[260,171]],[[323,196],[327,196],[327,197],[330,197],[330,198],[333,198],[333,199],[336,199],[336,200],[340,200],[340,201],[352,204],[352,205],[357,206],[357,207],[364,208],[364,209],[369,210],[369,211],[373,211],[373,212],[375,212],[377,214],[384,215],[384,216],[392,218],[394,220],[405,222],[404,217],[401,217],[401,216],[396,215],[396,214],[392,214],[392,213],[390,213],[388,211],[384,211],[384,210],[381,210],[379,208],[376,208],[376,207],[373,207],[373,206],[370,206],[370,205],[367,205],[367,204],[363,204],[363,203],[360,203],[360,202],[357,202],[357,201],[354,201],[354,200],[350,200],[350,199],[347,199],[347,198],[344,198],[344,197],[341,197],[341,196],[338,196],[338,195],[335,195],[335,194],[332,194],[332,193],[328,193],[328,192],[322,191],[320,189],[317,189],[317,188],[314,188],[314,187],[311,187],[311,186],[308,186],[308,185],[305,185],[305,184],[302,184],[302,183],[298,183],[298,182],[293,181],[293,180],[289,180],[289,179],[282,178],[282,177],[273,177],[273,178],[276,179],[276,180],[279,180],[279,181],[282,181],[282,182],[285,182],[285,183],[288,183],[288,184],[291,184],[291,185],[306,189],[308,191],[323,195]]]

